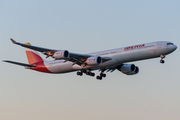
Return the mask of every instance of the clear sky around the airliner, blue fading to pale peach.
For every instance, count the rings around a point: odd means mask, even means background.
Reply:
[[[0,60],[28,63],[10,38],[75,53],[180,46],[179,12],[179,0],[0,0]],[[159,60],[133,62],[139,74],[114,71],[102,81],[0,62],[0,120],[179,120],[179,49]]]

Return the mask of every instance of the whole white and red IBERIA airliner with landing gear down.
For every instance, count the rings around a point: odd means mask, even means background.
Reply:
[[[97,80],[106,77],[105,71],[118,70],[125,75],[136,75],[139,73],[139,68],[134,64],[127,64],[128,62],[160,57],[160,63],[164,63],[165,56],[177,49],[177,46],[172,42],[157,41],[89,54],[78,54],[67,50],[32,46],[30,43],[23,44],[12,38],[10,40],[25,48],[29,64],[9,60],[4,62],[24,66],[26,69],[54,74],[77,71],[79,76],[86,74],[94,77],[95,73],[92,71],[99,70],[100,75],[96,76]],[[46,55],[46,58],[52,57],[54,60],[46,61],[39,56],[38,52]]]

